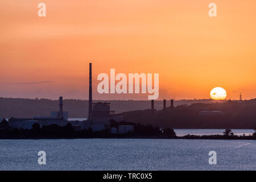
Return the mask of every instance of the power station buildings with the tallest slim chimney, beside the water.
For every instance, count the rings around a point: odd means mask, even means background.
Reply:
[[[92,63],[89,64],[89,107],[88,118],[84,121],[68,121],[68,112],[63,111],[63,97],[59,98],[59,111],[51,111],[50,116],[35,116],[34,118],[10,118],[9,126],[17,129],[32,129],[34,123],[39,123],[39,126],[59,125],[65,126],[71,123],[75,130],[83,130],[91,128],[93,131],[101,131],[110,129],[110,119],[122,121],[123,115],[115,114],[115,111],[110,110],[110,103],[107,102],[92,102]],[[117,129],[112,129],[113,133]],[[121,127],[120,131],[133,131],[130,127]]]

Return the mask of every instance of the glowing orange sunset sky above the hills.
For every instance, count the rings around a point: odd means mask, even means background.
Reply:
[[[38,3],[47,16],[38,16]],[[210,18],[208,5],[217,4]],[[255,98],[255,0],[1,0],[0,97],[147,100],[98,94],[100,73],[159,73],[159,99]]]

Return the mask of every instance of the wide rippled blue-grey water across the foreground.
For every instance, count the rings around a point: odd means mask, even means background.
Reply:
[[[0,140],[0,170],[256,170],[256,140]],[[46,165],[38,151],[46,151]],[[217,165],[209,165],[209,151]]]

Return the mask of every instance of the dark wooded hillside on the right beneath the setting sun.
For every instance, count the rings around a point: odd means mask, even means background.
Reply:
[[[218,115],[200,115],[200,111],[221,111]],[[224,101],[211,104],[180,105],[174,109],[151,113],[150,109],[123,113],[125,121],[171,127],[172,129],[254,129],[256,128],[256,99]]]

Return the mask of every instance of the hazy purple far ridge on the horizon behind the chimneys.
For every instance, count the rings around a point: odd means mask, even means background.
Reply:
[[[94,100],[93,102],[99,102]],[[111,110],[123,113],[133,110],[144,110],[151,108],[151,101],[106,101],[110,102]],[[211,103],[212,100],[179,100],[174,105],[191,105],[193,103]],[[167,101],[167,107],[170,101]],[[163,101],[155,101],[155,109],[163,109]],[[25,99],[25,98],[2,98],[0,97],[0,118],[20,117],[30,118],[34,115],[49,115],[51,111],[59,110],[59,100],[48,99]],[[68,111],[69,118],[86,118],[88,115],[87,100],[64,100],[63,110]]]

